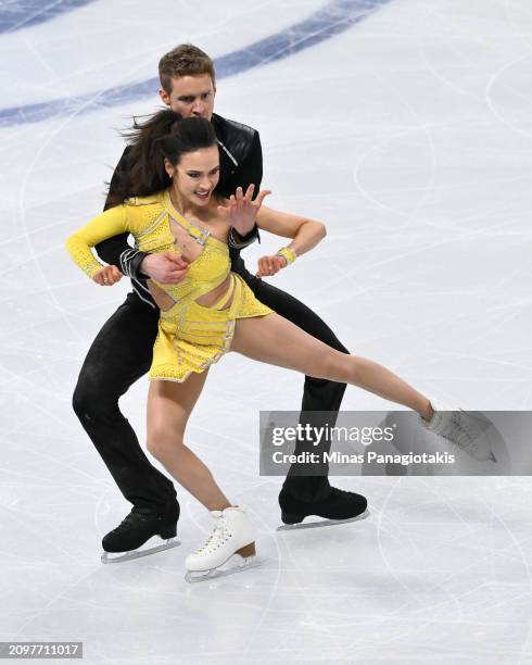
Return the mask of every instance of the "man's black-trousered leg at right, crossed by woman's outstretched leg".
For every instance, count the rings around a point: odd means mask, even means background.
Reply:
[[[347,349],[339,341],[334,332],[329,326],[309,308],[302,302],[271,286],[263,279],[245,276],[245,281],[253,290],[261,302],[271,308],[275,312],[288,318],[299,328],[308,332],[313,337],[319,339],[328,347],[332,347],[342,353],[349,353]],[[300,422],[303,425],[309,423],[315,427],[328,425],[334,426],[338,411],[342,402],[345,384],[337,384],[326,379],[317,379],[314,377],[305,377],[305,388],[303,393],[302,414]],[[330,412],[329,416],[325,414],[312,412]],[[330,439],[325,440],[319,447],[319,452],[330,451]],[[317,449],[313,442],[299,440],[295,447],[295,453],[303,451],[316,452]],[[305,475],[304,464],[292,464],[283,484],[283,490],[279,497],[281,507],[290,510],[287,504],[287,499],[293,497],[295,500],[303,502],[334,502],[341,503],[346,511],[346,514],[362,513],[366,509],[366,500],[364,497],[354,493],[344,493],[334,490],[331,495],[331,487],[328,480],[328,465],[321,467],[322,475],[307,476]],[[322,506],[321,506],[322,507]],[[341,510],[340,510],[341,513]],[[309,513],[312,514],[312,513]]]

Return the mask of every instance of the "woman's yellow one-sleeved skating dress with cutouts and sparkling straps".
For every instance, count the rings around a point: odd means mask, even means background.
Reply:
[[[203,246],[203,251],[189,264],[187,277],[180,284],[153,280],[175,304],[161,311],[150,379],[181,382],[192,372],[204,372],[229,351],[237,319],[273,312],[255,298],[240,275],[230,272],[227,243],[187,222],[173,208],[168,190],[165,190],[151,197],[128,199],[106,210],[69,236],[66,249],[73,261],[92,277],[103,265],[90,248],[118,234],[131,234],[137,248],[144,252],[176,251],[170,221],[185,228]],[[195,302],[221,285],[228,275],[229,288],[214,305],[203,306]]]

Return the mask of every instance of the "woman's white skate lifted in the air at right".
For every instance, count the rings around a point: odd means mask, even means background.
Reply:
[[[476,417],[466,411],[445,409],[431,400],[432,419],[421,418],[429,431],[448,439],[479,462],[496,462],[489,431],[493,424],[487,418]]]

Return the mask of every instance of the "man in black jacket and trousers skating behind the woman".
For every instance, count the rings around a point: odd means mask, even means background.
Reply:
[[[183,117],[195,115],[214,125],[220,151],[217,191],[229,197],[237,187],[246,191],[248,186],[254,184],[255,193],[258,192],[263,175],[258,131],[213,113],[216,79],[208,55],[194,46],[180,45],[161,59],[159,73],[160,96],[167,106]],[[122,202],[116,191],[118,184],[127,183],[131,166],[126,148],[111,179],[105,209]],[[131,196],[136,193],[130,192]],[[240,250],[257,238],[256,226],[245,236],[232,229],[231,269],[243,277],[261,302],[328,346],[347,353],[313,311],[246,271]],[[127,235],[105,240],[96,249],[103,261],[118,266],[131,278],[134,290],[94,339],[79,375],[73,405],[122,493],[134,505],[123,523],[103,538],[103,549],[105,552],[130,552],[152,536],[175,536],[179,518],[173,482],[144,455],[131,426],[119,411],[118,399],[148,372],[152,361],[159,309],[145,279],[177,284],[183,278],[187,264],[172,253],[140,252],[128,244]],[[306,377],[302,423],[333,426],[344,390],[343,384]],[[317,411],[333,415],[324,419],[309,413]],[[305,450],[329,451],[330,441],[324,441],[318,448],[313,442],[297,441],[295,452]],[[319,476],[308,476],[305,472],[304,465],[293,464],[279,494],[281,518],[286,524],[299,524],[308,515],[346,519],[366,510],[364,497],[329,485],[327,464],[319,468]]]

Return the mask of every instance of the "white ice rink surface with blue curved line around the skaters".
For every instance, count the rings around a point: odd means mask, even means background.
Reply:
[[[429,394],[531,409],[528,0],[3,2],[0,640],[84,641],[90,664],[532,663],[530,479],[335,478],[369,518],[277,532],[258,411],[297,409],[302,377],[232,354],[188,443],[251,511],[263,567],[187,585],[210,518],[179,488],[180,548],[101,565],[129,506],[71,396],[128,284],[96,287],[64,239],[182,41],[217,59],[216,111],[261,130],[269,204],[327,223],[274,284]],[[141,441],[147,388],[122,400]]]

